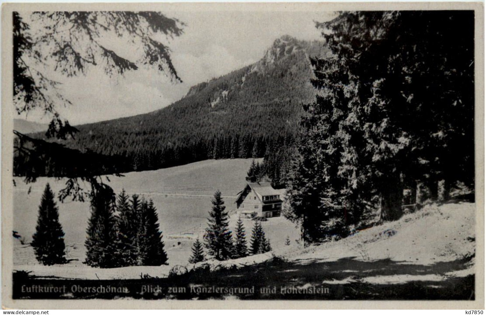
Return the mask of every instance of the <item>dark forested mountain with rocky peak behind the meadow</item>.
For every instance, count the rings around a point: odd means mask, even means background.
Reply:
[[[302,105],[315,97],[309,57],[327,53],[323,42],[282,36],[257,63],[197,84],[168,107],[76,126],[79,133],[61,143],[126,157],[120,171],[263,156],[284,167],[290,163],[280,159],[294,144]]]

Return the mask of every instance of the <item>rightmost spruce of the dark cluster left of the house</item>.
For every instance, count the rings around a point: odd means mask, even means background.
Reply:
[[[167,253],[162,242],[162,232],[159,230],[157,210],[150,199],[142,206],[143,234],[139,241],[141,264],[144,266],[159,266],[167,262]]]

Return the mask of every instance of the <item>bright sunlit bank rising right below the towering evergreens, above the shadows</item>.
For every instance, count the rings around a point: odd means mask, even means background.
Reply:
[[[390,259],[431,265],[466,258],[474,253],[475,204],[428,205],[398,221],[387,222],[353,236],[306,249],[299,259],[361,261]]]

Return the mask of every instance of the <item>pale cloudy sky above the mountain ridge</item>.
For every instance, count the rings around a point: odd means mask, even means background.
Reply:
[[[242,10],[226,8],[224,3],[197,11],[161,8],[166,16],[186,24],[181,36],[168,41],[183,83],[171,82],[166,75],[149,67],[112,77],[99,67],[91,67],[85,75],[73,78],[55,74],[55,79],[62,83],[60,92],[72,102],[67,107],[60,106],[58,111],[71,125],[148,113],[181,99],[194,84],[258,61],[282,35],[301,40],[322,39],[314,21],[329,20],[333,14],[294,9],[283,5],[278,10],[261,6]],[[116,39],[113,43],[115,51],[123,52],[123,43]],[[50,121],[49,116],[39,112],[29,113],[27,119]]]

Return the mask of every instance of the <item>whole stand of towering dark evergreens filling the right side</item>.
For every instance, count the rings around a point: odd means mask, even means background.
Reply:
[[[474,182],[473,12],[343,12],[312,58],[317,89],[288,190],[306,242],[347,235],[365,211],[401,216],[403,189],[437,199]],[[454,45],[451,45],[451,42]],[[446,197],[444,197],[446,196]]]

